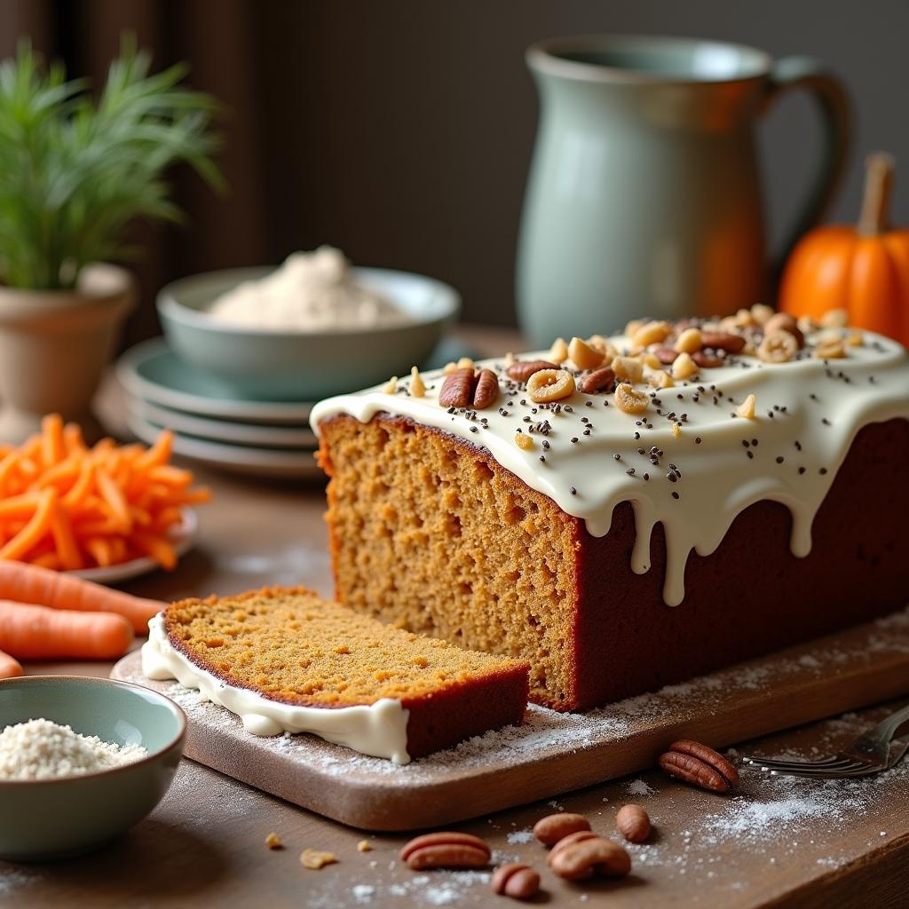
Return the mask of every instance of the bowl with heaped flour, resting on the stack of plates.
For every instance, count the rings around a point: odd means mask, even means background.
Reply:
[[[460,306],[441,281],[354,267],[330,246],[277,268],[184,278],[157,300],[176,355],[226,394],[268,401],[315,401],[407,375]]]

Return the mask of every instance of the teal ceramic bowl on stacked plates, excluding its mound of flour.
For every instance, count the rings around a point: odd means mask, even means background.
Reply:
[[[406,375],[432,353],[461,309],[454,288],[434,278],[355,268],[358,284],[384,295],[410,321],[368,330],[254,331],[206,315],[225,291],[272,271],[241,268],[194,275],[165,286],[157,299],[161,325],[176,355],[247,399],[317,401]]]

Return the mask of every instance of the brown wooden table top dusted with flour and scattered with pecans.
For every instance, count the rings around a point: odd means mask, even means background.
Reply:
[[[514,335],[495,335],[501,352]],[[105,413],[120,414],[113,389]],[[200,472],[215,489],[201,510],[202,534],[175,574],[130,589],[171,599],[231,594],[263,584],[304,582],[331,594],[321,485],[265,484]],[[106,675],[110,664],[30,664],[29,673]],[[889,705],[893,707],[894,705]],[[826,750],[887,707],[770,736],[747,748],[767,753]],[[745,750],[743,746],[742,750]],[[633,847],[634,872],[621,882],[564,884],[544,870],[529,828],[565,808],[613,832],[617,808],[644,804],[656,825]],[[766,781],[745,773],[742,793],[724,798],[675,784],[658,771],[481,817],[459,829],[484,836],[495,859],[534,864],[540,902],[562,906],[898,906],[909,900],[909,764],[861,784]],[[285,849],[270,851],[276,832]],[[357,844],[368,839],[371,851]],[[0,905],[130,907],[505,905],[488,875],[414,874],[397,860],[405,836],[365,836],[184,761],[150,817],[85,858],[59,864],[0,862]],[[336,854],[321,871],[299,864],[305,848]],[[606,899],[608,894],[608,901]]]

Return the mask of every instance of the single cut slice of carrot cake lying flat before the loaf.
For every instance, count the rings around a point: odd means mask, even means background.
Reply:
[[[395,764],[519,724],[527,702],[527,664],[302,588],[167,606],[149,623],[142,669],[199,689],[253,734],[314,733]]]

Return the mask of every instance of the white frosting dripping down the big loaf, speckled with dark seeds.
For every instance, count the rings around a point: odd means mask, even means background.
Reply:
[[[620,352],[630,344],[624,335],[610,340]],[[365,423],[387,413],[443,430],[486,450],[594,536],[607,534],[615,506],[629,502],[636,525],[632,568],[650,570],[651,534],[663,524],[663,596],[674,606],[684,600],[688,555],[713,553],[735,517],[755,502],[789,509],[792,552],[807,555],[814,515],[855,435],[864,425],[909,417],[904,347],[862,332],[861,344],[847,350],[831,360],[806,350],[779,364],[730,356],[689,381],[649,389],[653,400],[642,415],[620,411],[613,395],[579,391],[558,406],[534,404],[498,358],[476,364],[499,375],[501,393],[490,408],[440,406],[445,376],[436,370],[423,375],[423,396],[410,395],[407,383],[392,394],[375,387],[320,402],[310,421],[318,433],[335,415]],[[521,359],[548,357],[534,352]],[[748,395],[756,398],[754,419],[735,414]],[[534,439],[533,447],[515,444],[518,430]]]

